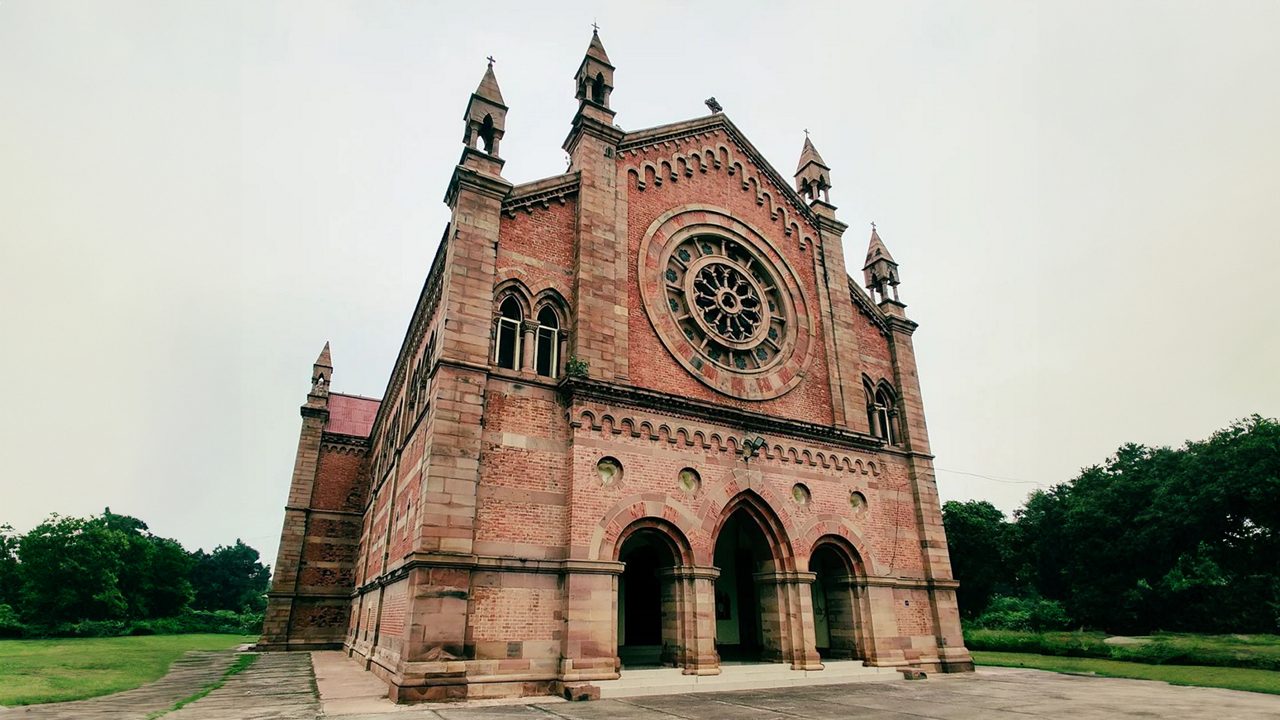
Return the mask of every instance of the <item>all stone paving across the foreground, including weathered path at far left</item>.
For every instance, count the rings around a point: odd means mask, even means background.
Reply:
[[[175,667],[182,674],[188,669]],[[172,675],[174,674],[172,673]],[[168,679],[168,676],[166,676]],[[319,683],[317,683],[319,680]],[[0,710],[0,719],[145,719],[161,710],[152,683],[96,701]],[[319,684],[319,691],[317,691]],[[972,675],[915,682],[860,682],[699,694],[645,696],[594,702],[530,697],[451,705],[394,705],[340,653],[264,653],[207,697],[164,720],[1030,720],[1125,717],[1274,720],[1280,696],[1184,688],[1148,680],[979,667]],[[147,691],[140,693],[140,691]],[[143,698],[152,697],[150,702]],[[168,694],[165,697],[169,697]],[[137,701],[137,702],[131,702]],[[173,702],[173,701],[169,701]]]

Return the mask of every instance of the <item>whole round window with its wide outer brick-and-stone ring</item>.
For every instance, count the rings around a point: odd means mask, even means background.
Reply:
[[[694,377],[746,400],[795,387],[809,363],[804,295],[754,228],[705,208],[676,210],[650,227],[640,258],[649,319]]]

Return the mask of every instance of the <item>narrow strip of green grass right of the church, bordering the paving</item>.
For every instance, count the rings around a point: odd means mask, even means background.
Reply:
[[[1105,678],[1162,680],[1174,685],[1201,685],[1280,694],[1280,673],[1252,667],[1211,667],[1206,665],[1147,665],[1098,657],[1062,657],[1028,652],[972,651],[978,665],[1033,667],[1055,673],[1092,673]]]

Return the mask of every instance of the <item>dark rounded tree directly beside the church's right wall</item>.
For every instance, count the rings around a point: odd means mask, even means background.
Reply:
[[[992,596],[1014,585],[1009,547],[1010,524],[1005,514],[984,500],[948,501],[942,506],[951,570],[960,589],[956,601],[964,618],[980,615]]]

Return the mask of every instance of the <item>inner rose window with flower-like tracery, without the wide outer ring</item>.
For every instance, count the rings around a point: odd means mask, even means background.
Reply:
[[[698,354],[739,373],[772,365],[787,332],[773,273],[744,243],[716,236],[681,242],[664,272],[667,306]]]

